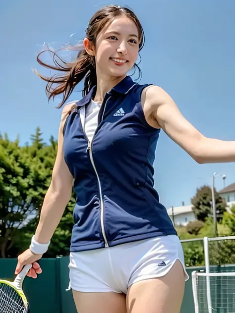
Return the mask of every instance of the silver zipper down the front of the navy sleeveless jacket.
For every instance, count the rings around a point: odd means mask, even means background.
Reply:
[[[104,112],[105,112],[106,104],[107,104],[107,102],[110,100],[110,98],[111,98],[111,96],[107,99],[107,101],[106,101],[106,103],[105,103]],[[104,112],[103,112],[101,121],[103,121]],[[82,127],[82,129],[83,129],[83,127]],[[107,240],[106,233],[105,233],[105,225],[104,225],[104,202],[103,202],[103,196],[102,196],[101,183],[100,183],[100,178],[99,178],[99,175],[98,175],[98,173],[97,173],[96,166],[95,166],[95,162],[94,162],[94,159],[93,159],[93,156],[92,156],[92,142],[93,142],[93,140],[94,140],[94,137],[95,137],[96,132],[97,132],[97,130],[96,130],[95,133],[94,133],[94,136],[93,136],[93,138],[92,138],[92,141],[89,141],[89,139],[87,138],[87,136],[86,136],[86,134],[85,134],[85,132],[84,132],[84,129],[83,129],[84,136],[86,137],[86,140],[87,140],[87,142],[88,142],[87,151],[89,152],[91,164],[92,164],[92,166],[93,166],[93,168],[94,168],[94,170],[95,170],[95,173],[96,173],[96,176],[97,176],[97,180],[98,180],[98,185],[99,185],[100,206],[101,206],[101,214],[100,214],[101,231],[102,231],[102,235],[103,235],[104,240],[105,240],[105,248],[109,248],[108,240]]]

